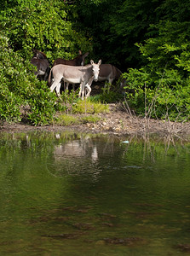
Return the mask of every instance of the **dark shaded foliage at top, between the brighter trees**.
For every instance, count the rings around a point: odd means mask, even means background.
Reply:
[[[82,2],[82,3],[81,3]],[[140,67],[141,56],[135,43],[143,42],[156,30],[163,12],[160,0],[106,0],[99,4],[76,1],[79,26],[85,27],[93,39],[95,55],[121,70]],[[101,20],[101,22],[100,22]]]

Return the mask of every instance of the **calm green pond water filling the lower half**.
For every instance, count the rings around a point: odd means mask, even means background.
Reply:
[[[189,166],[179,138],[0,133],[0,255],[190,255]]]

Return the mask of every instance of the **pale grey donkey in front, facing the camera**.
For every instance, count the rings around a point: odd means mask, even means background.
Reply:
[[[90,61],[91,65],[89,67],[72,67],[68,65],[55,65],[52,67],[49,73],[49,85],[51,83],[51,77],[54,77],[54,82],[50,86],[50,90],[56,90],[57,96],[60,96],[60,84],[63,79],[64,82],[70,84],[80,84],[79,97],[84,96],[84,90],[86,88],[87,94],[86,98],[89,96],[91,88],[90,85],[92,81],[98,80],[98,75],[100,72],[101,60],[95,64],[94,61]]]

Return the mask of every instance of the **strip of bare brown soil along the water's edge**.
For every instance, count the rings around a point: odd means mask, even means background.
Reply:
[[[96,124],[87,123],[72,126],[32,126],[26,123],[0,124],[0,131],[66,131],[75,130],[91,133],[110,133],[116,135],[130,135],[142,133],[176,134],[177,136],[190,135],[190,122],[177,123],[158,119],[144,119],[127,113],[119,104],[109,104],[109,113],[100,113],[101,120]]]

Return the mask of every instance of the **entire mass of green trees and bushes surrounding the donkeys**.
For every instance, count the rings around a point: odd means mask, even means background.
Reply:
[[[89,51],[126,79],[125,103],[147,116],[188,120],[190,3],[180,0],[5,0],[0,6],[0,119],[52,122],[61,99],[33,75],[32,49],[49,62]],[[89,59],[87,61],[89,61]],[[117,98],[111,91],[101,101]],[[63,101],[64,99],[62,99]]]

